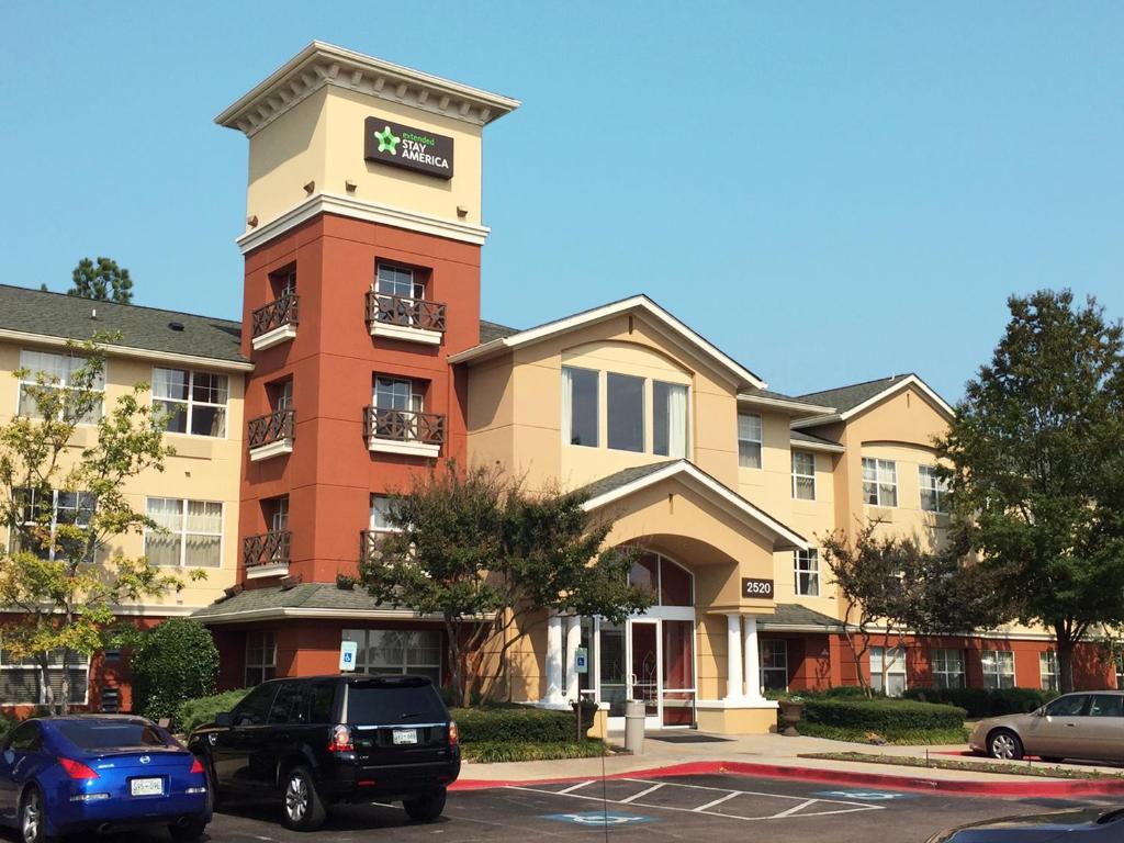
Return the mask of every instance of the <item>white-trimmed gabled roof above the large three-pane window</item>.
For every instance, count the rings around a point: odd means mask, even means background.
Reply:
[[[742,389],[764,389],[769,384],[756,374],[743,366],[741,363],[728,356],[717,346],[713,345],[700,334],[696,333],[681,323],[670,312],[656,305],[647,296],[632,296],[627,299],[613,301],[608,305],[583,310],[573,316],[555,319],[535,328],[520,330],[506,337],[497,337],[489,342],[468,348],[459,354],[450,356],[450,363],[473,363],[488,360],[508,351],[523,346],[540,343],[544,339],[565,334],[571,330],[596,325],[599,321],[611,319],[622,314],[642,312],[652,320],[668,329],[670,334],[683,342],[686,345],[697,350],[703,356],[708,357],[717,369],[725,372],[731,380],[735,381]]]

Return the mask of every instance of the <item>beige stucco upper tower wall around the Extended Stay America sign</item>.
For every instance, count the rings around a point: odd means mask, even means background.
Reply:
[[[364,123],[383,117],[453,138],[453,178],[445,180],[368,162]],[[246,215],[259,227],[308,199],[334,193],[380,206],[478,225],[481,127],[442,115],[326,85],[250,138]],[[345,182],[355,183],[348,192]],[[457,206],[466,209],[457,215]]]

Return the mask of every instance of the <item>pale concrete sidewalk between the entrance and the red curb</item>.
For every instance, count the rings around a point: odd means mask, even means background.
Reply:
[[[623,735],[610,733],[609,742],[620,745],[624,743]],[[999,786],[996,789],[1010,789],[1013,785],[1023,785],[1027,789],[1034,786],[1050,783],[1055,790],[1062,790],[1060,786],[1073,786],[1071,789],[1077,792],[1088,789],[1088,780],[1072,780],[1061,778],[1039,778],[1015,776],[1008,773],[980,773],[968,770],[940,770],[934,768],[908,768],[894,767],[880,763],[860,763],[851,761],[828,761],[822,759],[799,758],[807,753],[825,752],[863,752],[883,755],[900,755],[913,758],[925,758],[926,752],[933,758],[955,760],[955,753],[966,751],[963,744],[955,746],[874,746],[862,743],[846,743],[843,741],[828,741],[818,737],[785,737],[782,735],[744,735],[744,736],[713,736],[689,731],[662,731],[653,732],[644,741],[644,753],[641,755],[617,755],[610,754],[606,758],[592,759],[569,759],[562,761],[527,761],[502,764],[473,764],[465,763],[461,771],[461,779],[474,782],[478,786],[484,783],[518,783],[526,781],[543,781],[551,779],[580,779],[599,778],[602,771],[606,776],[623,776],[636,771],[651,771],[659,768],[674,768],[699,763],[728,763],[749,764],[761,769],[777,768],[777,774],[786,774],[810,778],[822,774],[825,780],[840,780],[853,778],[855,781],[865,779],[869,785],[873,779],[900,779],[906,782],[904,786],[915,788],[943,788],[958,789],[970,782],[980,786]],[[963,758],[960,760],[975,760],[984,763],[1001,763],[985,758]],[[1009,762],[1008,762],[1009,763]],[[1018,762],[1035,767],[1057,767],[1055,764],[1043,764],[1041,762]],[[1061,767],[1072,767],[1079,770],[1099,770],[1106,773],[1122,772],[1121,768],[1091,767],[1078,764],[1062,764]],[[932,782],[932,785],[931,785]],[[1051,783],[1052,782],[1052,783]],[[1100,780],[1097,783],[1102,789],[1109,789],[1115,792],[1118,787],[1124,794],[1124,779]]]

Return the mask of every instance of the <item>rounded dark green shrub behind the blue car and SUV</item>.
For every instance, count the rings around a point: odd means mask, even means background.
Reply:
[[[214,694],[217,678],[218,649],[198,620],[165,620],[133,651],[136,708],[154,720],[171,717],[185,700]]]

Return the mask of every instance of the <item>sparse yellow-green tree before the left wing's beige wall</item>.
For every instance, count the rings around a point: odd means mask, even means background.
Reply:
[[[11,536],[0,547],[0,607],[15,616],[3,627],[3,647],[16,659],[34,659],[47,705],[61,713],[70,706],[75,656],[117,635],[115,608],[183,587],[143,556],[109,552],[118,536],[157,528],[133,509],[124,487],[142,472],[162,471],[173,453],[147,384],[102,411],[99,343],[111,339],[71,344],[65,383],[54,374],[17,371],[21,413],[0,425],[0,525]],[[81,450],[74,444],[80,423],[97,430]],[[53,658],[63,669],[57,694],[48,681]]]

